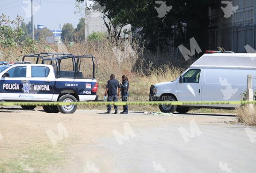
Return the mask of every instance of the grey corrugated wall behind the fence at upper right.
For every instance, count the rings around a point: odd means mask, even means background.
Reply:
[[[216,0],[223,7],[221,0]],[[233,0],[232,5],[239,8],[229,18],[224,17],[221,8],[209,9],[211,28],[208,49],[223,47],[234,52],[246,52],[249,44],[256,49],[256,0]]]

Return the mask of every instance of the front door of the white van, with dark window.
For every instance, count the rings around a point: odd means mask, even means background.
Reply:
[[[179,101],[201,101],[203,69],[189,69],[177,82]]]

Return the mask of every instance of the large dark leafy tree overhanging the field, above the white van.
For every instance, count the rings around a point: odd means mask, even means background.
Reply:
[[[110,20],[110,23],[105,22],[108,30],[111,30],[112,26],[115,36],[118,37],[118,27],[131,24],[133,28],[140,28],[142,39],[147,40],[149,49],[152,50],[169,46],[173,33],[177,33],[175,46],[189,43],[191,37],[195,37],[199,45],[203,46],[209,26],[208,9],[214,6],[212,0],[163,0],[163,3],[172,9],[163,17],[159,17],[156,8],[163,4],[158,4],[155,0],[95,1],[105,7],[104,16]]]

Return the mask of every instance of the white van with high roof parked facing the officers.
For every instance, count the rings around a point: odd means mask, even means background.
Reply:
[[[152,85],[149,100],[239,101],[247,89],[247,75],[256,76],[256,54],[204,54],[175,81]],[[255,78],[253,78],[253,88],[256,88]],[[161,112],[186,113],[193,107],[232,109],[238,106],[160,105],[159,108]]]

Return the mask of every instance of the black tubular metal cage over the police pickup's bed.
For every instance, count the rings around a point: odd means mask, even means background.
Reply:
[[[92,55],[76,56],[72,54],[63,54],[63,53],[38,53],[38,54],[25,55],[23,56],[22,61],[24,61],[25,58],[36,58],[36,63],[52,65],[55,69],[55,75],[57,78],[62,78],[62,77],[83,78],[83,73],[81,72],[82,58],[91,58],[92,60],[92,79],[95,79],[95,74],[98,71],[97,59]],[[72,71],[61,70],[62,60],[65,60],[68,58],[72,59],[73,70]],[[39,59],[41,59],[40,62],[39,62]],[[96,64],[96,67],[95,67],[95,64]]]

